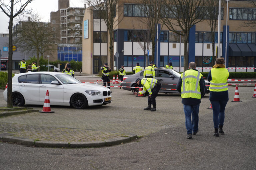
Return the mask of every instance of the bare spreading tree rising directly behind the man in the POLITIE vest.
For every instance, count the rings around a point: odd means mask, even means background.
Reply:
[[[166,27],[184,38],[184,71],[188,67],[189,30],[203,21],[207,12],[204,0],[165,0],[160,15]],[[180,32],[181,31],[181,32]]]

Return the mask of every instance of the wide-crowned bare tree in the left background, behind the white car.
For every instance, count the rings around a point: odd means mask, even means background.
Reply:
[[[39,57],[57,48],[55,33],[56,29],[50,27],[50,23],[41,22],[37,14],[30,15],[29,21],[20,21],[14,27],[14,42],[19,44],[24,52],[35,52],[37,64],[40,65]]]

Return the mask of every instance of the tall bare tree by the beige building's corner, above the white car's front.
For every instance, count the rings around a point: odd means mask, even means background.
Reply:
[[[109,34],[110,68],[114,66],[113,31],[123,19],[123,6],[119,0],[86,0],[93,13],[104,20]]]

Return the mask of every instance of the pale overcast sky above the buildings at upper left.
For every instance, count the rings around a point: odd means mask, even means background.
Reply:
[[[70,0],[69,5],[71,7],[84,7],[84,0]],[[43,20],[43,22],[50,21],[50,12],[58,10],[58,0],[34,0],[27,9],[33,9],[33,13],[37,13]],[[17,23],[17,19],[14,19],[14,24]],[[0,9],[0,33],[8,33],[9,18]]]

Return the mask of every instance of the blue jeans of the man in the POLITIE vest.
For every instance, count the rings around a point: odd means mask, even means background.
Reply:
[[[186,129],[187,134],[196,132],[198,130],[198,113],[199,113],[199,105],[183,105],[185,118],[186,118]],[[192,114],[192,122],[191,122],[191,114]]]

